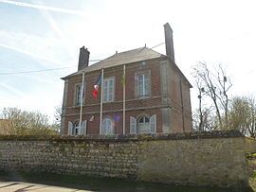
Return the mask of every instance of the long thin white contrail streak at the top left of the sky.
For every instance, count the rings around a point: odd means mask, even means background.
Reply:
[[[72,14],[72,15],[85,16],[85,14],[82,10],[55,8],[55,7],[28,4],[28,3],[11,1],[11,0],[0,0],[0,3],[6,3],[6,4],[14,5],[14,6],[25,7],[25,8],[45,9],[45,10],[51,10],[54,12],[62,12],[62,13],[67,13],[67,14]]]

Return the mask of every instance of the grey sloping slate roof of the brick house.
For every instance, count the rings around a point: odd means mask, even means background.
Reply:
[[[109,58],[106,58],[92,65],[89,65],[76,73],[73,73],[69,76],[64,77],[63,79],[67,79],[67,78],[82,74],[82,71],[84,71],[85,73],[92,72],[92,71],[100,70],[101,68],[119,66],[122,64],[128,64],[136,61],[146,61],[146,60],[151,60],[155,58],[160,58],[163,56],[164,55],[144,46],[137,49],[114,54]]]

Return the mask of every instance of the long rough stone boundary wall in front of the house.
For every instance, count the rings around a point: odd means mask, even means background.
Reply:
[[[247,183],[245,138],[239,131],[0,136],[0,170],[192,185]]]

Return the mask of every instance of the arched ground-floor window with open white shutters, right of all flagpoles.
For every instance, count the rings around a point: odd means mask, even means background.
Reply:
[[[141,115],[137,119],[130,116],[130,134],[156,133],[156,114]]]

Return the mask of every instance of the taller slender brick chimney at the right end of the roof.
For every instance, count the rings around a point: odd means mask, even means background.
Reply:
[[[173,29],[166,23],[164,25],[164,35],[165,35],[165,48],[166,55],[175,62],[174,59],[174,40],[173,40]]]

